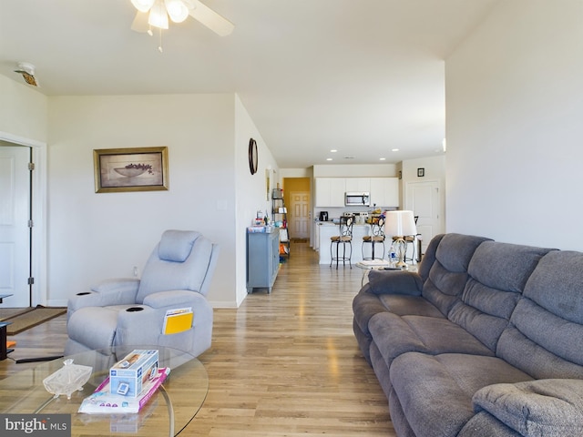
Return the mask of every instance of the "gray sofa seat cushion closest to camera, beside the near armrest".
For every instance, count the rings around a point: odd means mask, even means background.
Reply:
[[[532,378],[496,357],[409,352],[394,359],[390,380],[406,422],[422,437],[457,435],[476,414],[472,397],[483,387]]]

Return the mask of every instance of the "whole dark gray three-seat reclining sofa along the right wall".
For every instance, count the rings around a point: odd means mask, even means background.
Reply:
[[[583,436],[583,253],[439,235],[353,313],[399,437]]]

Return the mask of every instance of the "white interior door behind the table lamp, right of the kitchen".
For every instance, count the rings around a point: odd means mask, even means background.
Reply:
[[[405,184],[405,209],[414,212],[417,219],[417,233],[422,236],[422,251],[429,241],[443,232],[443,211],[441,205],[441,183],[439,180],[407,182]]]

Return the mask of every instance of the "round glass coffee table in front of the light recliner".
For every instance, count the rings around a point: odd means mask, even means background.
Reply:
[[[137,413],[86,414],[77,412],[81,401],[107,378],[109,368],[135,349],[159,351],[159,367],[169,367],[170,374],[154,396]],[[83,391],[54,398],[46,391],[43,380],[60,370],[63,361],[91,366],[93,373]],[[160,346],[121,346],[103,351],[88,351],[49,361],[21,371],[0,381],[1,413],[71,414],[71,436],[106,436],[179,434],[207,397],[209,376],[202,363],[184,351]]]

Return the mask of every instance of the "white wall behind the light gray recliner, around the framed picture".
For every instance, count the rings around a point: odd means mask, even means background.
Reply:
[[[165,229],[220,244],[209,300],[236,305],[235,97],[49,97],[49,303],[142,269]],[[95,193],[93,149],[169,147],[169,191]]]

